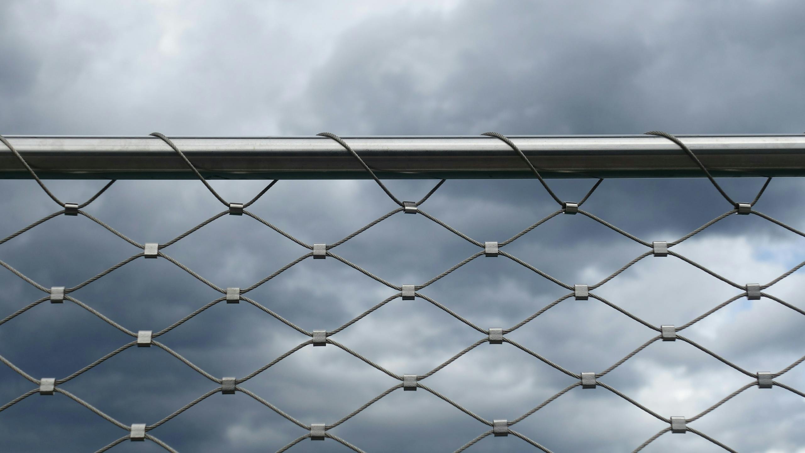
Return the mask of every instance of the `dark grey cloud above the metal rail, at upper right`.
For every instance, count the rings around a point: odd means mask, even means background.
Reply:
[[[283,124],[342,134],[803,130],[801,2],[466,2],[341,37]],[[390,23],[394,23],[390,27]],[[295,109],[295,105],[289,105]]]

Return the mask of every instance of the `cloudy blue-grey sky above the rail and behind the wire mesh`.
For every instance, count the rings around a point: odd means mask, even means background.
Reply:
[[[0,133],[312,135],[801,133],[805,4],[654,2],[0,3]],[[681,152],[681,151],[680,151]],[[551,181],[578,200],[588,179]],[[418,200],[435,181],[389,181]],[[752,200],[762,179],[721,183]],[[47,181],[81,202],[105,181]],[[216,181],[249,200],[264,181]],[[805,229],[803,183],[774,179],[756,208]],[[31,180],[0,180],[0,237],[58,210]],[[394,209],[369,180],[280,181],[250,210],[331,244]],[[504,241],[556,210],[535,180],[450,180],[423,210],[478,241]],[[674,241],[729,210],[704,179],[606,180],[584,208],[645,241]],[[119,181],[85,209],[138,242],[164,243],[221,212],[198,181]],[[739,284],[802,262],[805,239],[729,216],[675,247]],[[568,284],[600,281],[646,247],[585,216],[556,216],[505,250]],[[424,216],[395,214],[334,250],[394,284],[422,283],[478,250]],[[250,286],[307,253],[249,216],[222,216],[165,253],[218,286]],[[43,286],[75,286],[138,253],[84,216],[0,245]],[[803,271],[766,292],[805,307]],[[0,269],[0,318],[43,293]],[[506,257],[480,257],[421,291],[483,328],[511,327],[567,290]],[[682,325],[739,293],[675,257],[647,257],[597,294],[654,325]],[[250,297],[306,330],[332,330],[395,293],[335,259],[306,259]],[[138,258],[71,294],[133,331],[159,331],[220,297],[166,259]],[[754,373],[805,354],[805,317],[739,299],[684,335]],[[568,299],[508,337],[574,373],[601,372],[656,332],[604,303]],[[394,373],[423,374],[483,335],[424,299],[394,299],[334,340]],[[243,377],[308,338],[248,303],[219,303],[159,338],[213,376]],[[74,303],[0,326],[0,355],[65,377],[130,337]],[[489,420],[512,420],[573,383],[511,344],[481,344],[422,381]],[[692,417],[751,381],[682,341],[656,342],[601,381],[663,417]],[[805,369],[778,381],[805,389]],[[242,387],[303,423],[332,423],[397,381],[340,348],[308,346]],[[159,348],[130,348],[62,385],[126,425],[214,389]],[[0,366],[0,404],[33,388]],[[803,453],[805,401],[747,389],[690,426],[736,451]],[[572,389],[514,426],[555,453],[628,452],[667,425],[606,389]],[[395,390],[329,431],[367,452],[454,451],[488,427],[423,389]],[[0,450],[96,451],[126,432],[61,394],[0,413]],[[305,430],[243,393],[215,394],[151,431],[178,451],[275,451]],[[530,451],[514,436],[467,451]],[[163,451],[121,443],[116,453]],[[297,453],[348,451],[308,439]],[[536,451],[536,450],[535,450]],[[648,453],[723,451],[664,434]]]

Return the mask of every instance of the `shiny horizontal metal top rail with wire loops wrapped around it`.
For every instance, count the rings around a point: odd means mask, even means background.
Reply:
[[[42,178],[194,179],[151,136],[6,135]],[[803,176],[805,134],[677,135],[714,176]],[[387,179],[533,178],[510,146],[486,136],[343,137]],[[703,172],[675,143],[652,135],[510,137],[545,178],[687,178]],[[209,179],[365,179],[326,137],[175,137]],[[30,178],[0,146],[0,178]]]

